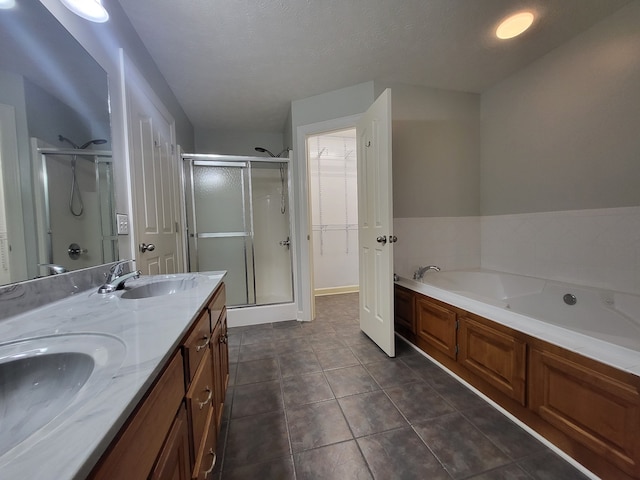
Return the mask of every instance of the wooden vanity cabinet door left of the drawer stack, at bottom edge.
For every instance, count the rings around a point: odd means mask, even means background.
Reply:
[[[181,407],[149,478],[151,480],[188,480],[190,471],[187,412],[184,407]]]

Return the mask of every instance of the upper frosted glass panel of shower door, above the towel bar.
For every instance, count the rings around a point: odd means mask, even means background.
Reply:
[[[244,168],[194,166],[193,183],[198,233],[246,231]]]

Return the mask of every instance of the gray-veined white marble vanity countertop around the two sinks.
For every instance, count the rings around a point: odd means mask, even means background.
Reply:
[[[176,277],[193,279],[196,286],[145,299],[122,299],[122,291],[100,295],[93,288],[0,321],[0,349],[25,339],[47,337],[55,343],[90,334],[98,342],[108,338],[113,352],[110,368],[94,370],[91,382],[63,414],[0,456],[0,478],[85,478],[224,275],[142,276],[127,281],[127,289]],[[99,349],[96,352],[101,354]],[[41,408],[46,407],[30,405],[25,399],[24,418],[33,415],[31,410]],[[0,436],[12,435],[1,422]]]

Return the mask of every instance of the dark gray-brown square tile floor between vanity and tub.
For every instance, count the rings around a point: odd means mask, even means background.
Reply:
[[[586,478],[404,342],[388,358],[357,294],[316,302],[229,330],[216,480]]]

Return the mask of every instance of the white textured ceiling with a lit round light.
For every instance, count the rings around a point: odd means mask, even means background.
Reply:
[[[637,0],[118,1],[196,128],[279,132],[292,100],[369,80],[482,92]]]

